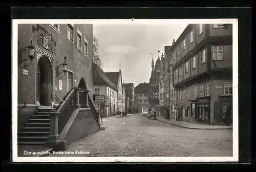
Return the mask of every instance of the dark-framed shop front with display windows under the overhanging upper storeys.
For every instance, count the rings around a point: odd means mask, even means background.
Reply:
[[[210,97],[198,97],[191,100],[191,116],[197,120],[197,123],[210,125]]]

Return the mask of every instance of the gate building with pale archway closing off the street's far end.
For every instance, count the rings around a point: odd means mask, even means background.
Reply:
[[[150,83],[140,83],[135,90],[136,99],[136,112],[137,113],[148,113],[150,110],[150,103],[148,103],[148,90],[150,90]]]

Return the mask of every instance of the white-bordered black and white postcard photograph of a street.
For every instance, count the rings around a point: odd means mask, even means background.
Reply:
[[[236,19],[14,19],[12,55],[14,161],[238,161]]]

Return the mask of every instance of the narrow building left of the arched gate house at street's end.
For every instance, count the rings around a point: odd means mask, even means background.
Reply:
[[[136,113],[135,91],[133,83],[124,83],[125,106],[126,112],[130,114]]]

